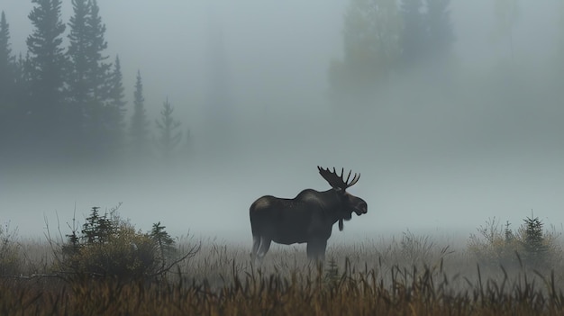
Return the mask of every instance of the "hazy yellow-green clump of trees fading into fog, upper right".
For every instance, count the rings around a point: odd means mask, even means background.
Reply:
[[[351,0],[343,25],[343,58],[333,60],[335,95],[369,94],[392,73],[441,68],[455,41],[450,0]]]

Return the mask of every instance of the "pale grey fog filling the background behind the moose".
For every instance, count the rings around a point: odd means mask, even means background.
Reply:
[[[330,91],[347,0],[98,5],[107,53],[122,59],[128,109],[139,69],[150,121],[168,96],[190,129],[190,155],[173,167],[150,159],[2,170],[0,221],[20,235],[42,236],[45,219],[57,230],[57,217],[64,234],[75,207],[83,222],[92,206],[123,203],[123,218],[141,230],[160,221],[176,236],[250,243],[250,203],[328,189],[316,166],[360,173],[349,191],[368,203],[330,244],[405,230],[465,238],[488,218],[516,228],[532,211],[562,229],[564,96],[550,61],[562,32],[557,1],[520,3],[513,50],[493,35],[489,0],[452,1],[455,75],[398,74],[369,106],[335,102]],[[26,50],[31,8],[0,7],[15,53]],[[65,1],[65,22],[71,13]],[[228,100],[220,113],[209,102],[218,85]]]

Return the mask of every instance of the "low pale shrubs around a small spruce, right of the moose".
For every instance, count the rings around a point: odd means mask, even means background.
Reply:
[[[516,234],[509,222],[502,227],[495,217],[490,218],[478,228],[478,233],[479,236],[470,235],[468,250],[488,266],[550,267],[562,256],[556,235],[543,230],[538,217],[523,219]]]

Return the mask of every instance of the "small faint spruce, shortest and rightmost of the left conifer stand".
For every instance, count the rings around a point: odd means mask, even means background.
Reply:
[[[175,121],[172,117],[174,108],[168,102],[168,98],[162,105],[163,109],[160,111],[160,121],[155,120],[157,128],[160,130],[157,145],[162,152],[162,156],[164,158],[170,158],[172,152],[177,148],[178,143],[182,139],[182,131],[176,131],[180,126],[180,122]]]

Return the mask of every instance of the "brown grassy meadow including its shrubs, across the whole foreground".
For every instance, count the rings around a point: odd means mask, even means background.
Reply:
[[[2,315],[557,315],[564,313],[559,233],[527,217],[489,219],[467,240],[418,236],[301,246],[263,262],[215,239],[135,229],[117,208],[45,240],[0,230]],[[55,236],[56,235],[56,236]]]

